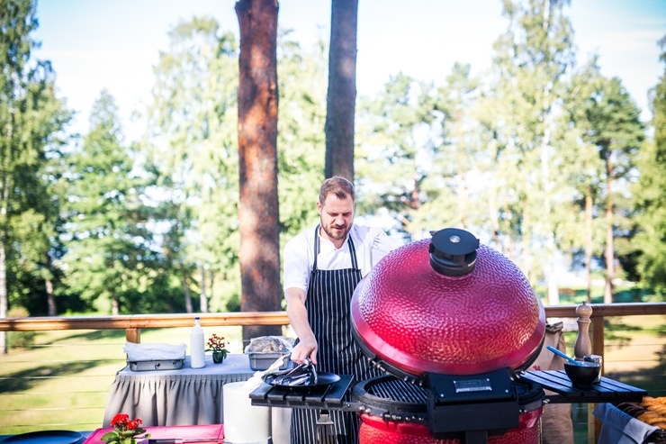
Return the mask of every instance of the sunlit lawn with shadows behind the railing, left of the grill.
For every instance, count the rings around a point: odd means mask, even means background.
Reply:
[[[242,352],[240,327],[206,327]],[[189,328],[141,331],[141,342],[185,343]],[[42,331],[34,346],[0,356],[0,435],[94,430],[116,372],[125,366],[125,331]],[[189,348],[189,347],[188,347]]]

